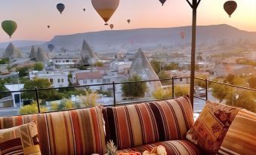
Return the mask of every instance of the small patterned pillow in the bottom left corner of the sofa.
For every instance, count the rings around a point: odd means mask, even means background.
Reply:
[[[39,155],[39,138],[36,123],[0,130],[0,154]]]

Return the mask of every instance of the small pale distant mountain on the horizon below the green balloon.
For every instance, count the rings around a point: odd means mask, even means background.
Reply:
[[[8,44],[10,44],[10,42],[12,42],[17,48],[31,47],[32,45],[45,44],[45,41],[9,41],[9,42],[0,43],[0,48],[8,47]]]

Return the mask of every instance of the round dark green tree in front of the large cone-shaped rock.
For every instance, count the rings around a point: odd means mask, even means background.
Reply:
[[[128,78],[126,82],[142,81],[142,78],[137,74],[134,74],[131,78]],[[122,84],[122,93],[126,97],[144,97],[147,92],[147,84],[145,82],[137,82],[130,84]]]

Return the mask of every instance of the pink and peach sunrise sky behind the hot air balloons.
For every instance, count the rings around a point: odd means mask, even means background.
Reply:
[[[224,2],[202,0],[197,25],[225,23],[256,32],[256,1],[236,0],[238,7],[231,18],[224,11]],[[58,3],[66,5],[61,15],[56,9]],[[128,19],[131,19],[130,24]],[[91,0],[1,0],[0,21],[4,20],[14,20],[18,28],[12,38],[1,29],[0,42],[50,41],[55,35],[109,30],[94,10]],[[111,23],[114,29],[190,26],[192,9],[186,0],[167,0],[164,6],[159,0],[120,0],[119,8],[109,20]],[[48,25],[51,29],[47,28]]]

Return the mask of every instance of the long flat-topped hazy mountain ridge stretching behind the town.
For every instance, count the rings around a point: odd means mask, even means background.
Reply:
[[[180,36],[184,32],[184,38]],[[85,32],[74,35],[57,35],[46,44],[54,44],[55,47],[67,49],[81,49],[82,41],[97,52],[103,52],[109,48],[125,49],[142,47],[175,46],[177,44],[190,44],[191,26],[174,28],[148,28],[109,30],[100,32]],[[236,42],[249,39],[256,41],[256,32],[246,32],[227,24],[197,26],[197,44],[216,43],[219,41]]]

